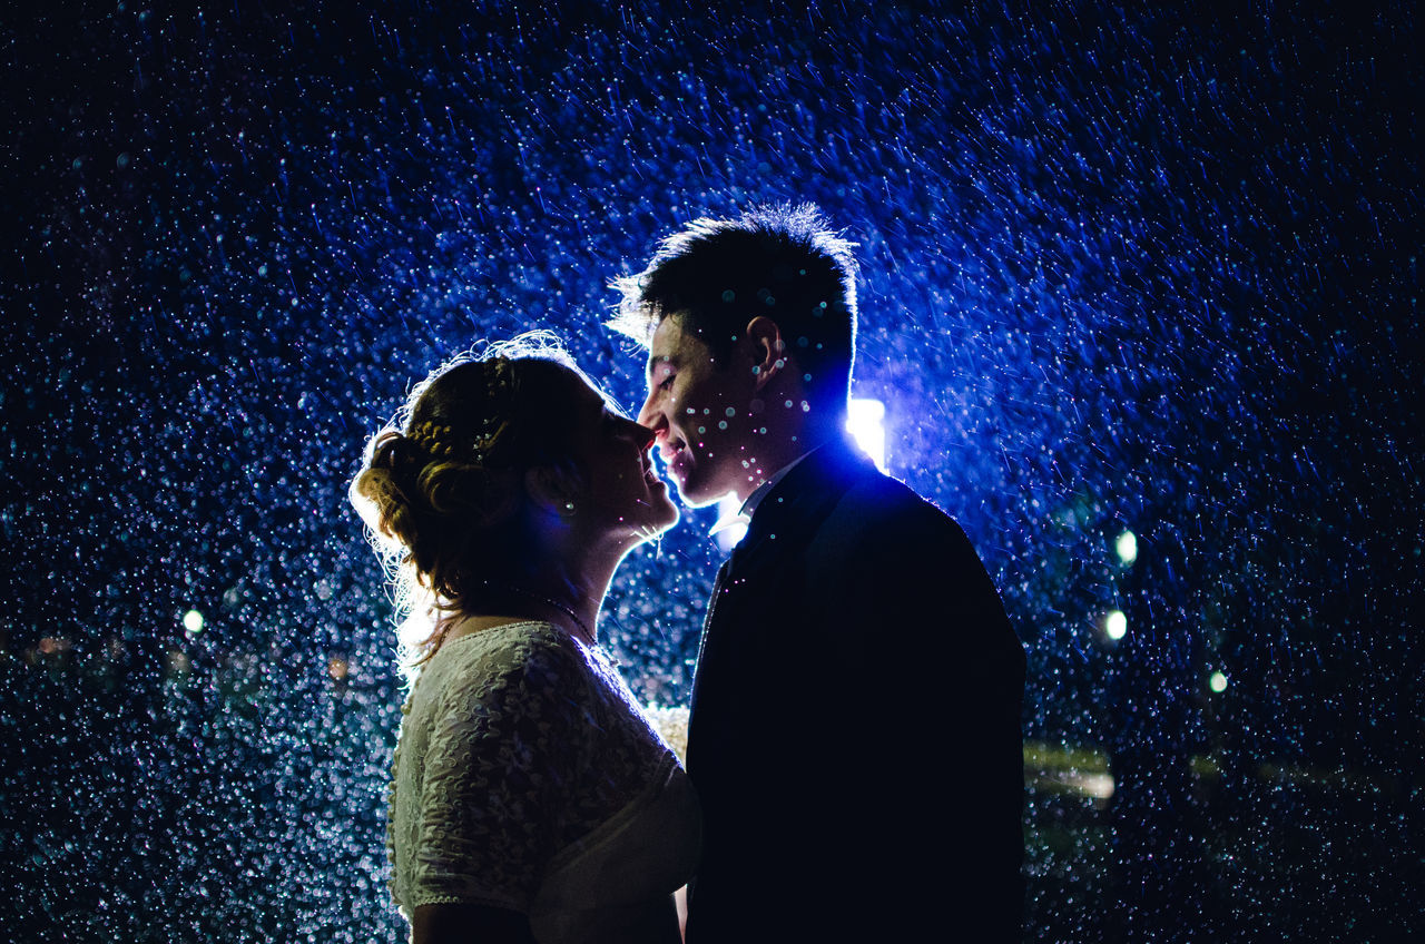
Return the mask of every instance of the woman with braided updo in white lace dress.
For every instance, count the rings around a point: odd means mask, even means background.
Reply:
[[[618,562],[678,516],[651,443],[516,339],[436,371],[368,448],[352,499],[423,627],[388,843],[418,944],[680,938],[697,797],[594,635]]]

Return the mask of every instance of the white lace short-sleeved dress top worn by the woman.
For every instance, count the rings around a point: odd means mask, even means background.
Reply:
[[[675,944],[697,796],[597,649],[536,622],[460,636],[402,712],[388,851],[408,920],[484,904],[527,914],[549,944]]]

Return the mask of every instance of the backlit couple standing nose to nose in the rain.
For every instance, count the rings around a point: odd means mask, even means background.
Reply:
[[[851,248],[811,207],[697,221],[617,284],[637,421],[524,335],[370,441],[352,499],[405,619],[412,940],[1017,938],[1025,656],[960,528],[848,441]],[[684,503],[750,520],[685,769],[596,635],[620,560],[678,519],[654,445]]]

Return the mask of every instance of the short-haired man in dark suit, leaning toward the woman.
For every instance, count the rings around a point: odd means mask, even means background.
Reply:
[[[694,676],[687,940],[1017,940],[1025,655],[960,528],[848,441],[851,244],[701,220],[620,288],[683,499],[750,516]]]

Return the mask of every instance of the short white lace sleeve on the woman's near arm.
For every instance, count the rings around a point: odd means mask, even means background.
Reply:
[[[576,659],[523,637],[446,680],[416,800],[410,908],[529,910],[564,841],[567,791],[589,766],[589,676]]]

